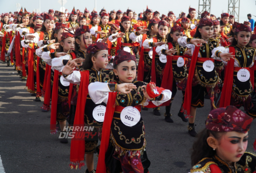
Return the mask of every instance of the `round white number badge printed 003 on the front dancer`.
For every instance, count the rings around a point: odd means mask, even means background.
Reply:
[[[134,126],[140,120],[140,112],[133,106],[125,107],[120,114],[121,121],[126,126]]]

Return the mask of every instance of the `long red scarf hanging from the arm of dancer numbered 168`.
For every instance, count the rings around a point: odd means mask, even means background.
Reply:
[[[185,91],[185,98],[183,103],[183,109],[186,110],[186,115],[190,115],[190,107],[191,107],[191,99],[192,99],[192,81],[195,74],[196,69],[196,63],[198,58],[200,47],[195,47],[193,56],[191,58],[190,68],[189,68],[189,74],[187,78],[187,86]]]

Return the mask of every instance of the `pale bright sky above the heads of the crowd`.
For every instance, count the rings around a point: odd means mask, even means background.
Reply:
[[[4,1],[0,0],[0,13],[4,12],[14,12],[16,11],[16,4],[19,3],[23,8],[25,7],[27,11],[32,12],[34,9],[39,9],[39,1],[40,3],[40,9],[41,11],[48,11],[49,9],[60,10],[61,5],[58,3],[58,1],[61,2],[61,0],[9,0]],[[91,12],[93,8],[95,7],[95,0],[63,0],[67,3],[64,5],[66,9],[69,10],[69,12],[72,11],[73,7],[75,9],[79,9],[80,11],[83,11],[86,7]],[[122,10],[123,12],[127,10],[127,8],[135,10],[135,12],[138,14],[139,12],[143,12],[143,9],[146,9],[146,6],[148,5],[149,9],[152,9],[153,11],[159,11],[162,14],[167,15],[168,11],[173,11],[176,16],[179,15],[181,11],[188,13],[188,8],[191,6],[192,8],[195,8],[198,10],[199,1],[202,2],[202,0],[129,0],[125,3],[123,0],[96,0],[96,10],[99,12],[103,7],[107,11],[111,10]],[[229,0],[211,0],[211,14],[216,15],[217,17],[220,17],[221,13],[228,12],[228,1]],[[237,0],[236,0],[237,1]],[[31,3],[33,2],[33,3]],[[145,3],[146,2],[146,3]],[[243,21],[247,20],[247,14],[251,13],[252,15],[256,15],[255,12],[256,2],[254,0],[240,0],[240,23],[243,23]],[[252,17],[254,20],[256,20],[256,17]]]

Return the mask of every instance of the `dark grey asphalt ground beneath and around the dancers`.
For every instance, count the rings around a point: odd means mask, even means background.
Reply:
[[[62,144],[58,135],[50,135],[50,112],[41,112],[42,101],[25,90],[26,82],[20,81],[12,67],[0,62],[0,156],[5,172],[84,172],[69,167],[70,139]],[[155,116],[153,109],[142,111],[145,124],[146,150],[151,161],[150,172],[189,172],[191,168],[191,146],[196,138],[187,133],[188,123],[178,116],[182,93],[178,91],[171,113],[174,123],[164,120],[164,107],[161,116]],[[209,113],[210,102],[198,109],[196,131],[204,128]],[[242,109],[243,110],[243,109]],[[256,122],[252,122],[249,132],[247,152],[253,152],[256,137]],[[94,155],[97,165],[97,155]]]

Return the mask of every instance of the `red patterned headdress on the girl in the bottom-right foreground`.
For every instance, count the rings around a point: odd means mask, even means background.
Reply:
[[[221,107],[212,110],[206,120],[205,127],[214,132],[247,133],[252,118],[237,109],[235,106]]]

